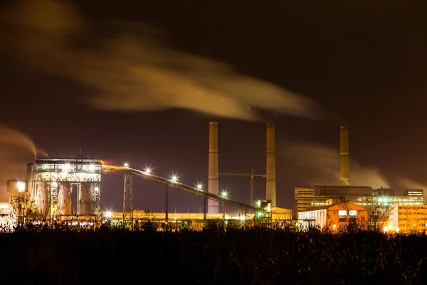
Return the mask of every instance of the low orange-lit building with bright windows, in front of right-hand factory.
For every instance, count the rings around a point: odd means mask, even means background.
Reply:
[[[325,206],[298,212],[298,222],[302,227],[339,229],[339,227],[346,227],[352,219],[368,220],[367,209],[362,205],[352,202],[333,204],[333,202],[335,202],[333,199],[329,199]]]

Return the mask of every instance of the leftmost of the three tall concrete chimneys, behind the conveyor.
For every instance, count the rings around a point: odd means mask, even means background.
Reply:
[[[209,123],[208,192],[218,195],[218,123]],[[218,201],[208,200],[208,212],[218,213]]]

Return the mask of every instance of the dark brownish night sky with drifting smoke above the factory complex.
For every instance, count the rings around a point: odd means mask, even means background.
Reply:
[[[258,173],[274,120],[278,205],[292,207],[293,187],[336,181],[346,122],[354,183],[398,194],[427,184],[427,5],[283,2],[4,1],[0,123],[51,157],[82,147],[85,157],[207,185],[210,120],[220,172]],[[248,105],[265,112],[254,117]],[[24,175],[31,155],[3,149],[2,177]],[[122,177],[104,178],[102,207],[119,210]],[[255,186],[263,198],[263,178]],[[248,202],[245,178],[220,187]],[[160,209],[162,195],[135,180],[135,208]],[[199,199],[175,191],[170,201],[196,211]]]

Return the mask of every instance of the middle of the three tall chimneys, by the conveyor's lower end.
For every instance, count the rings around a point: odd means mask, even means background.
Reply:
[[[276,206],[275,194],[275,125],[267,123],[267,159],[265,164],[265,199],[271,200]]]

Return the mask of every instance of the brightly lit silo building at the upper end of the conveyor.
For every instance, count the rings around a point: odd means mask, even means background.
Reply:
[[[27,165],[28,193],[45,217],[100,214],[102,161],[38,158]],[[75,212],[71,197],[75,195]]]

